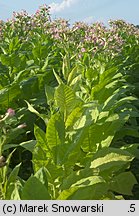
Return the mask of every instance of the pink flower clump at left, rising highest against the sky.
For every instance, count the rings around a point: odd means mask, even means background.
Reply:
[[[38,28],[44,29],[48,21],[50,21],[49,7],[46,5],[41,6],[33,15],[29,15],[25,10],[13,12],[12,18],[2,26],[3,33],[1,33],[1,22],[3,21],[0,22],[0,36],[5,36],[7,32],[10,32],[11,36],[18,35],[25,38]]]

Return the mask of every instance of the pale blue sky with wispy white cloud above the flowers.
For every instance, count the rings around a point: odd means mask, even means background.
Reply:
[[[0,19],[11,18],[13,11],[34,13],[40,5],[51,6],[53,18],[107,23],[109,19],[124,19],[139,24],[139,0],[0,0]]]

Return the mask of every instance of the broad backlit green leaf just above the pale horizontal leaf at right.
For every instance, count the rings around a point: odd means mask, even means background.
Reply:
[[[93,123],[92,119],[92,124],[88,127],[82,143],[82,147],[85,151],[94,152],[97,146],[109,147],[112,143],[115,133],[118,133],[127,120],[126,118],[121,118],[118,114],[110,115],[108,117],[107,115],[107,112],[100,113],[99,119],[96,120],[96,123]],[[97,116],[98,114],[96,113],[96,117]]]

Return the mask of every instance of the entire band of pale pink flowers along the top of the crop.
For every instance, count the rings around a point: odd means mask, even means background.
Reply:
[[[139,40],[139,29],[123,20],[110,20],[109,27],[100,22],[91,25],[75,22],[70,27],[67,20],[51,20],[49,11],[50,8],[43,5],[33,15],[25,10],[14,12],[12,19],[5,23],[0,21],[0,38],[9,34],[29,41],[36,33],[43,33],[49,35],[57,46],[68,42],[71,49],[76,49],[80,56],[85,52],[91,52],[94,56],[102,51],[106,55],[119,55],[130,37],[134,35]]]

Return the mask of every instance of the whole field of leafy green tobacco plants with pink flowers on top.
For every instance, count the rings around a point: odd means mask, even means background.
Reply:
[[[0,21],[0,199],[139,199],[139,29]]]

